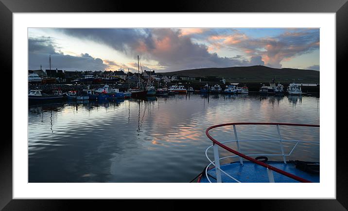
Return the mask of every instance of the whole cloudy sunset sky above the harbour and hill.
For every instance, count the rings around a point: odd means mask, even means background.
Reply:
[[[136,28],[28,30],[29,70],[157,72],[264,65],[319,70],[319,29]]]

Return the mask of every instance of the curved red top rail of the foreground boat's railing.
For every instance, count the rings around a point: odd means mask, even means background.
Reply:
[[[284,176],[288,176],[288,177],[290,177],[290,178],[293,178],[293,179],[295,179],[295,180],[297,180],[297,181],[299,181],[299,182],[311,182],[311,181],[309,181],[309,180],[307,180],[307,179],[304,179],[304,178],[301,178],[301,177],[299,177],[299,176],[290,174],[290,173],[285,172],[285,171],[283,171],[283,170],[280,170],[280,169],[278,169],[278,168],[276,168],[276,167],[273,167],[273,166],[270,166],[270,165],[268,165],[268,164],[266,164],[266,163],[263,163],[263,162],[261,162],[261,161],[259,161],[259,160],[256,160],[256,159],[254,159],[254,158],[251,158],[251,157],[249,157],[249,156],[246,156],[246,155],[244,155],[244,154],[242,154],[242,153],[240,153],[240,152],[238,152],[238,151],[235,151],[235,150],[233,150],[233,149],[227,147],[226,145],[220,143],[219,141],[216,141],[216,140],[215,140],[214,138],[212,138],[212,137],[210,136],[210,134],[209,134],[209,130],[211,130],[211,129],[213,129],[213,128],[216,128],[216,127],[222,127],[222,126],[228,126],[228,125],[243,125],[243,124],[244,124],[244,125],[245,125],[245,124],[258,124],[258,125],[287,125],[287,126],[305,126],[305,127],[319,127],[320,125],[317,125],[317,124],[294,124],[294,123],[225,123],[225,124],[213,125],[213,126],[209,127],[209,128],[206,130],[206,135],[208,136],[208,138],[209,138],[211,141],[213,141],[214,144],[219,145],[220,147],[226,149],[227,151],[229,151],[229,152],[231,152],[231,153],[233,153],[233,154],[235,154],[235,155],[237,155],[237,156],[239,156],[239,157],[241,157],[241,158],[247,159],[247,160],[249,160],[249,161],[251,161],[251,162],[253,162],[253,163],[256,163],[256,164],[258,164],[258,165],[261,165],[261,166],[263,166],[263,167],[265,167],[265,168],[268,168],[268,169],[270,169],[270,170],[272,170],[272,171],[275,171],[275,172],[277,172],[277,173],[279,173],[279,174],[282,174],[282,175],[284,175]],[[199,178],[199,179],[200,179],[200,178]]]

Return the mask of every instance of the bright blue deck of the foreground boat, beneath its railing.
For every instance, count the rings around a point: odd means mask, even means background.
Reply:
[[[304,179],[310,180],[312,182],[320,182],[319,174],[309,174],[307,172],[303,172],[299,169],[296,169],[294,163],[279,162],[279,161],[267,161],[267,164],[274,166],[280,170],[288,172],[290,174],[302,177]],[[240,162],[233,162],[225,165],[221,165],[220,167],[223,171],[225,171],[230,176],[238,179],[241,182],[269,182],[267,169],[263,166],[255,164],[250,161],[243,161],[243,165]],[[216,182],[216,172],[215,168],[208,170],[209,179],[211,182]],[[277,172],[273,172],[275,182],[298,182],[295,179],[289,178],[287,176],[283,176],[278,174]],[[214,177],[214,178],[213,178]],[[236,182],[230,177],[226,176],[224,173],[221,173],[222,182]],[[209,182],[206,174],[204,172],[202,179],[200,182]]]

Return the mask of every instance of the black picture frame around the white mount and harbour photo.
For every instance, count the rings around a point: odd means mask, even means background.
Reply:
[[[169,6],[164,6],[169,3]],[[156,2],[106,1],[106,0],[0,0],[0,52],[3,70],[12,72],[12,14],[13,13],[51,13],[51,12],[272,12],[272,13],[336,13],[336,70],[344,67],[348,51],[348,3],[347,0],[177,0],[173,3],[161,3],[163,8],[156,8]],[[333,74],[337,74],[334,73]],[[8,78],[8,75],[6,76]],[[4,87],[12,87],[6,79]],[[6,84],[7,83],[7,84]],[[332,86],[332,85],[331,85]],[[3,87],[3,88],[4,88]],[[335,86],[336,87],[336,86]],[[9,97],[9,96],[8,96]],[[10,102],[9,99],[7,99]],[[12,97],[11,97],[12,100]],[[11,101],[12,102],[12,101]],[[336,102],[335,102],[336,103]],[[11,103],[12,105],[12,103]],[[1,105],[2,106],[2,105]],[[8,105],[3,111],[8,110]],[[12,110],[12,113],[16,112]],[[4,112],[10,115],[10,112]],[[5,118],[5,117],[3,117]],[[12,119],[11,117],[8,117]],[[6,126],[7,125],[7,126]],[[12,131],[11,123],[6,123],[3,131]],[[6,128],[7,127],[7,128]],[[11,128],[9,128],[11,127]],[[6,130],[7,129],[7,130]],[[335,141],[335,140],[332,140]],[[244,208],[255,206],[258,210],[347,210],[348,170],[342,139],[336,140],[336,199],[332,200],[234,200],[233,207],[242,204]],[[68,210],[71,203],[85,207],[98,206],[105,210],[113,200],[19,200],[12,199],[12,133],[1,139],[0,143],[0,209],[3,210]],[[211,203],[204,203],[211,204]],[[226,203],[224,203],[226,204]],[[173,207],[174,208],[174,207]],[[70,208],[72,209],[72,208]],[[112,210],[114,209],[111,207]],[[232,209],[232,208],[231,208]],[[81,210],[81,209],[79,209]]]

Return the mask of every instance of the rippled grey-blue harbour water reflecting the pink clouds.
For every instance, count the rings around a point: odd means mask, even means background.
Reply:
[[[319,124],[319,98],[191,94],[30,105],[29,182],[189,182],[208,164],[211,141],[205,130],[231,122]],[[280,126],[280,131],[283,139],[319,141],[319,128]],[[237,133],[240,140],[278,138],[276,126],[237,125]],[[210,134],[234,140],[231,126]],[[285,153],[292,146],[284,143]],[[280,148],[279,142],[247,141],[241,150],[260,154]],[[289,159],[318,161],[319,145],[298,144]]]

